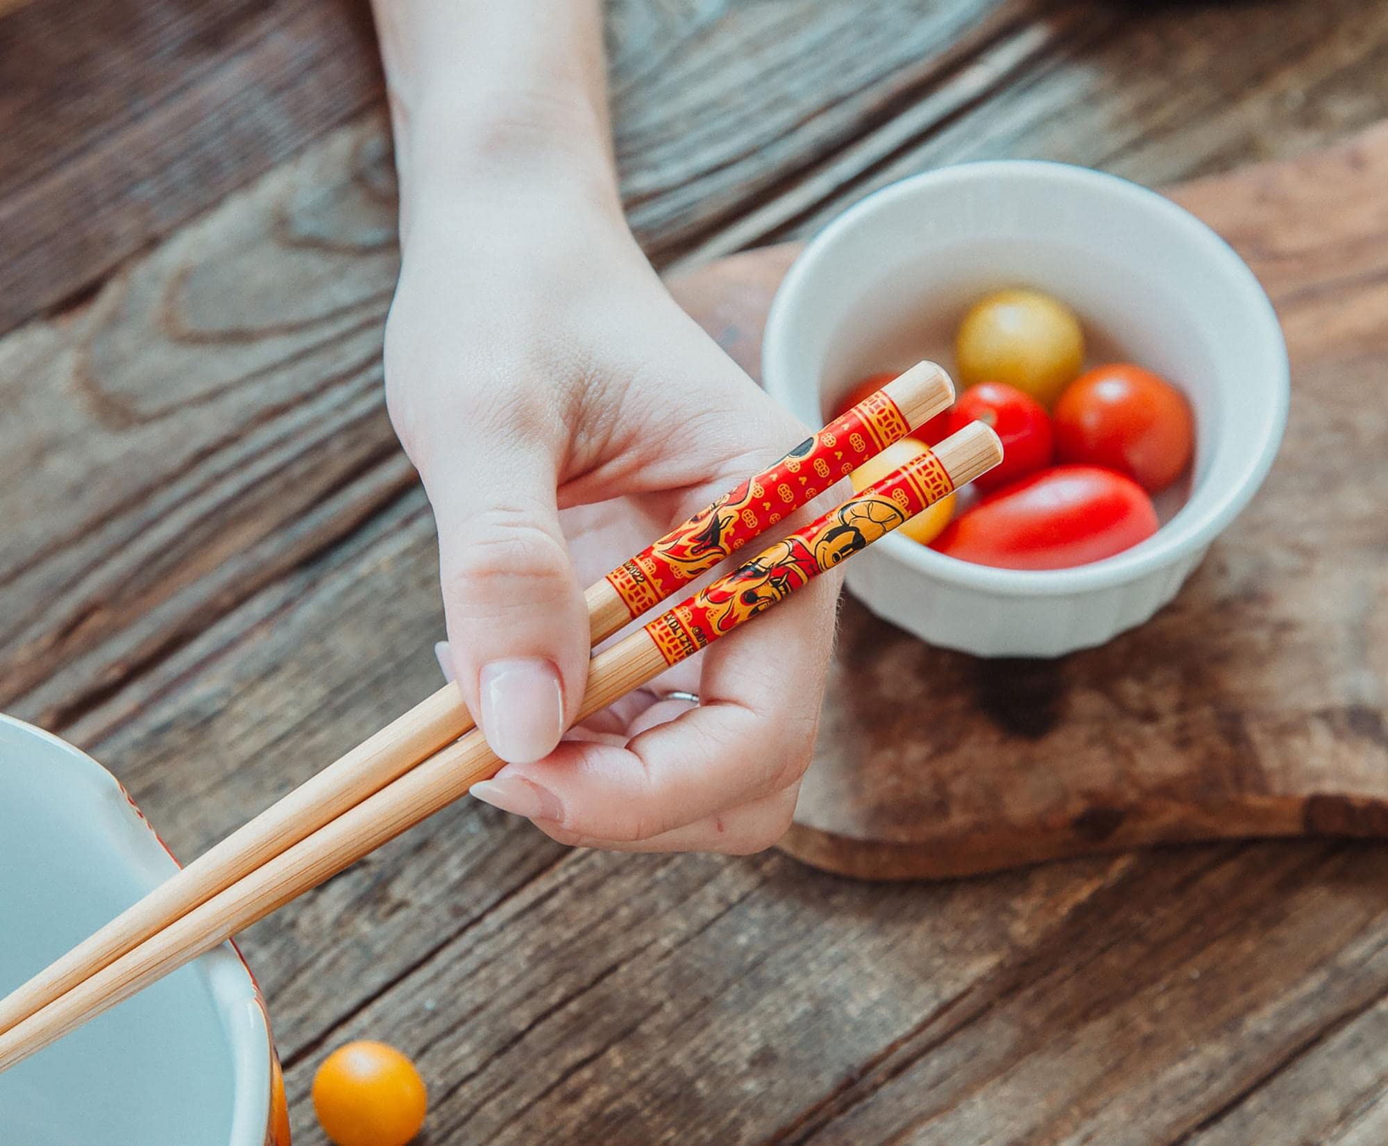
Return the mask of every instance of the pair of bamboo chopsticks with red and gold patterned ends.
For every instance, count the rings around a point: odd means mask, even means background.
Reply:
[[[922,362],[834,419],[594,584],[586,594],[593,644],[643,616],[952,400],[944,370]],[[595,653],[577,719],[698,652],[1001,459],[997,434],[981,423],[919,454]],[[501,762],[482,733],[469,730],[473,721],[458,690],[446,685],[0,1000],[0,1071],[494,776]]]

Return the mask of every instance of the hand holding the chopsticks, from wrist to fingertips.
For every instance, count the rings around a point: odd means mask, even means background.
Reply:
[[[815,738],[834,576],[559,738],[587,674],[583,587],[806,427],[679,309],[615,209],[550,190],[412,209],[386,384],[437,519],[444,659],[511,762],[473,795],[568,844],[773,844]]]

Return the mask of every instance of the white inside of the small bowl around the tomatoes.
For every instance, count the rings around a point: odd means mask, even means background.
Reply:
[[[919,358],[954,369],[965,311],[988,291],[1031,286],[1073,307],[1088,362],[1130,359],[1190,397],[1188,486],[1167,522],[1092,566],[994,570],[906,538],[883,545],[951,580],[1044,591],[1063,579],[1142,563],[1173,544],[1208,544],[1262,480],[1285,418],[1287,364],[1256,279],[1213,232],[1124,180],[1059,164],[969,164],[879,191],[816,239],[787,276],[766,340],[768,388],[822,422],[855,382]]]

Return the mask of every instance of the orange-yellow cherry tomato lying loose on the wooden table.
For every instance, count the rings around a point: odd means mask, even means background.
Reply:
[[[350,1042],[314,1075],[314,1110],[337,1146],[405,1146],[425,1124],[425,1082],[383,1042]]]

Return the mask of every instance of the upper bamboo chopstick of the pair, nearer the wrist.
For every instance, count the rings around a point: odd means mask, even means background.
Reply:
[[[589,588],[593,644],[680,591],[951,401],[948,375],[933,362],[919,362],[836,418]],[[461,694],[444,685],[0,999],[0,1034],[472,727]]]

